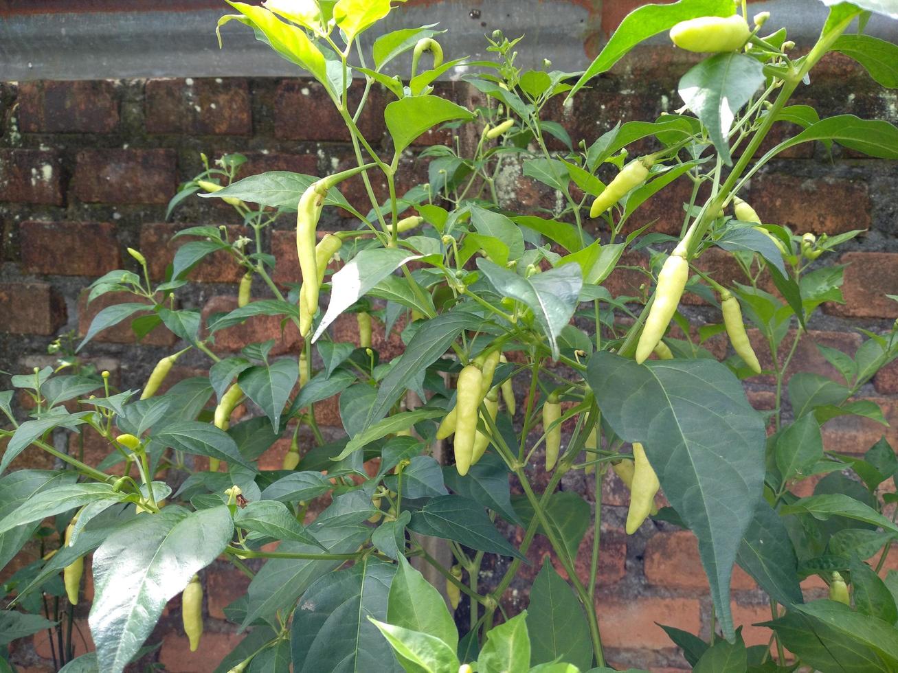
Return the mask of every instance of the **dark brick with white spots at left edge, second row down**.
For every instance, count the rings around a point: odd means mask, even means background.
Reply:
[[[62,205],[60,154],[51,150],[0,150],[0,201]]]

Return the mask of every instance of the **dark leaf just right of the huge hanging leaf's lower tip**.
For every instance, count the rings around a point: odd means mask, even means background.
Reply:
[[[783,520],[766,500],[758,502],[735,560],[771,599],[785,606],[804,602],[795,547]]]

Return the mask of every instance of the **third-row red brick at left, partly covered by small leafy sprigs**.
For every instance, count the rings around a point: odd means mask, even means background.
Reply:
[[[173,238],[174,234],[182,229],[185,229],[182,224],[168,223],[144,224],[140,228],[140,249],[144,250],[150,277],[154,280],[162,280],[165,277],[166,267],[172,263],[175,252],[184,243],[201,240],[197,236]],[[247,233],[251,232],[242,225],[234,224],[227,227],[228,240],[236,240]],[[204,258],[188,277],[197,283],[239,283],[245,271],[246,269],[239,266],[231,255],[221,250]]]

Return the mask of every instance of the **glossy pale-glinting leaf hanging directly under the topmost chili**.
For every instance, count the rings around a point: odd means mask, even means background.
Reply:
[[[711,141],[727,166],[733,163],[727,135],[735,115],[762,83],[762,64],[735,51],[706,58],[680,79],[682,100],[708,128]]]

